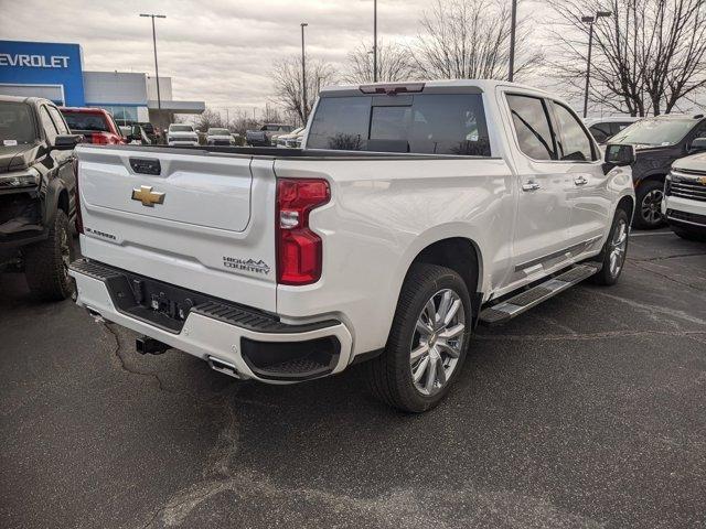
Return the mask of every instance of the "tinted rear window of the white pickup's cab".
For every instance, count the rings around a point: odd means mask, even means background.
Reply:
[[[490,155],[483,100],[477,94],[324,97],[307,147]]]

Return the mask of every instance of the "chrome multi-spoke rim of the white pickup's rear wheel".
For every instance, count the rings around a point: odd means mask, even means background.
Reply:
[[[461,298],[445,289],[434,294],[417,317],[409,368],[415,388],[435,395],[446,386],[463,350],[466,313]]]

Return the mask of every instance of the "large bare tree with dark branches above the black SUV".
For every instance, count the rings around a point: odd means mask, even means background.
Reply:
[[[582,94],[590,26],[581,17],[611,11],[593,24],[589,100],[632,116],[678,108],[706,87],[704,0],[548,0],[560,61],[555,76]]]

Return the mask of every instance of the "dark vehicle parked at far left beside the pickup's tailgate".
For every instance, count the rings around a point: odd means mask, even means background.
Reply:
[[[73,291],[73,152],[81,139],[52,101],[0,96],[0,270],[23,269],[44,299]]]

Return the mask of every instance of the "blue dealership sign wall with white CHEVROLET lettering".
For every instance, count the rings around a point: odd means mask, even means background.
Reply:
[[[0,94],[38,91],[60,94],[60,97],[51,98],[62,99],[61,102],[67,106],[85,105],[81,46],[0,41]]]

